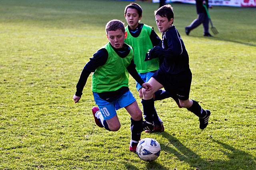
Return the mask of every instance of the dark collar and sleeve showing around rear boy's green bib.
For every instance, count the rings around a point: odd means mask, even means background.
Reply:
[[[140,35],[140,32],[142,30],[144,23],[139,23],[138,27],[136,29],[131,29],[130,26],[128,25],[128,29],[132,37],[138,37]],[[154,28],[152,27],[152,31],[150,33],[150,40],[151,43],[154,46],[158,45],[161,42],[161,39],[158,37],[156,32],[154,31]]]

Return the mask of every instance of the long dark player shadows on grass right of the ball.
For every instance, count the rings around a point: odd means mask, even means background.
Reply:
[[[180,143],[177,138],[173,137],[169,133],[163,132],[161,135],[168,139],[168,141],[177,149],[175,150],[166,146],[165,144],[161,144],[161,146],[164,146],[162,150],[174,154],[180,161],[184,161],[196,169],[256,169],[256,158],[253,155],[242,150],[235,149],[234,147],[223,142],[212,139],[216,145],[220,145],[220,149],[218,151],[224,153],[228,160],[219,158],[218,160],[208,161],[202,159],[195,152],[188,149],[186,146]],[[223,149],[221,150],[221,148]]]

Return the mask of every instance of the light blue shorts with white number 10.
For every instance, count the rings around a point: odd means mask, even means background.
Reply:
[[[98,105],[104,120],[109,120],[116,115],[116,110],[129,106],[136,101],[130,90],[125,92],[120,98],[114,100],[113,102],[106,102],[100,98],[98,93],[92,92],[96,105]]]

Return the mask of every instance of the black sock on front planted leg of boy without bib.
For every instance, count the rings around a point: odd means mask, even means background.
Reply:
[[[153,115],[154,112],[156,112],[155,106],[154,106],[154,99],[149,99],[149,100],[141,100],[142,106],[143,106],[143,115],[144,119],[149,122],[153,123]],[[155,113],[156,114],[156,113]]]

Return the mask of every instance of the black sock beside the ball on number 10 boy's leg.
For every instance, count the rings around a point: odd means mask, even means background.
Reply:
[[[135,121],[131,118],[131,133],[133,141],[140,141],[140,135],[142,131],[142,117],[139,121]]]

